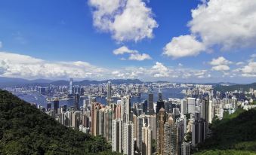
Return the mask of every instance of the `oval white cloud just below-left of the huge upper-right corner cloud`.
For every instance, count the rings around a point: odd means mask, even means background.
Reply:
[[[205,47],[196,40],[195,36],[180,35],[179,37],[172,38],[171,42],[166,44],[163,50],[163,54],[166,56],[179,58],[184,56],[196,56],[202,50],[205,50]]]

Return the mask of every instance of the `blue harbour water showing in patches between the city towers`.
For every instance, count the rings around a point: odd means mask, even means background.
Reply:
[[[168,100],[169,98],[173,99],[184,99],[184,93],[181,93],[183,88],[163,88],[162,98]],[[158,100],[158,90],[153,90],[154,102]],[[14,93],[14,95],[18,96],[20,99],[23,99],[26,102],[41,105],[46,108],[48,101],[46,100],[46,96],[42,96],[39,93]],[[88,99],[88,96],[82,96],[79,100],[79,105],[82,106],[85,99]],[[141,93],[141,96],[132,96],[131,104],[144,102],[148,99],[148,93]],[[113,101],[116,102],[119,98],[113,97]],[[96,96],[96,101],[100,102],[103,105],[106,105],[106,96]],[[74,99],[68,100],[60,100],[61,105],[72,106],[74,105]]]

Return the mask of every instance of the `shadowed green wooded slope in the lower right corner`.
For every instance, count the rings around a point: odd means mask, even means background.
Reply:
[[[256,154],[256,109],[237,109],[225,114],[223,120],[214,119],[211,138],[199,146],[196,154]]]

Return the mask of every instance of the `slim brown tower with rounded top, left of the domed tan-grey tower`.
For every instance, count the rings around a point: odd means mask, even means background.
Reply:
[[[164,155],[164,125],[165,125],[165,109],[161,108],[157,114],[157,133],[156,133],[156,152],[159,155]]]

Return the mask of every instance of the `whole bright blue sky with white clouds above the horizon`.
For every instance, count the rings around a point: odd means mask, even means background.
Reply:
[[[238,0],[2,0],[0,76],[249,83],[256,77],[255,6]],[[114,54],[120,47],[125,50]]]

